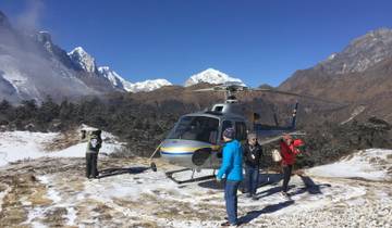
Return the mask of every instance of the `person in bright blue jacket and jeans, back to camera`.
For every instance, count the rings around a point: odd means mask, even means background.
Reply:
[[[243,180],[243,151],[241,143],[234,139],[234,128],[223,131],[223,161],[217,175],[217,181],[225,178],[224,201],[229,220],[222,226],[237,226],[237,190]]]

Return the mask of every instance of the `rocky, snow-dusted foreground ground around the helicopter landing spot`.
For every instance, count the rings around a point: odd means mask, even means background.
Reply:
[[[101,157],[102,178],[84,177],[83,159],[41,157],[0,168],[0,227],[219,227],[225,216],[213,180],[177,185],[179,167],[146,159]],[[204,173],[205,174],[205,173]],[[198,175],[204,175],[198,174]],[[175,176],[189,177],[189,173]],[[264,174],[254,201],[240,193],[241,227],[391,227],[388,181],[293,176],[291,199],[280,174]]]

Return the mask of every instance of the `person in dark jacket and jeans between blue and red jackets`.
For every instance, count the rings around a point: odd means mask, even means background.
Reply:
[[[257,142],[256,134],[248,134],[247,141],[244,144],[246,197],[254,200],[257,200],[256,191],[260,176],[261,155],[262,148]]]

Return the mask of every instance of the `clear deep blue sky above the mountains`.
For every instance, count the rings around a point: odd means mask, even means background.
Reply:
[[[278,86],[369,30],[392,27],[392,1],[1,0],[14,24],[82,46],[135,83],[182,85],[208,67]]]

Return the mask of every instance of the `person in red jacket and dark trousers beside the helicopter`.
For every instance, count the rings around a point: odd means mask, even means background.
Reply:
[[[304,142],[301,139],[293,140],[292,136],[287,134],[283,135],[283,139],[280,142],[281,165],[283,167],[282,195],[286,198],[289,198],[289,181],[295,163],[295,156],[301,153],[297,148],[302,145],[304,145]]]

